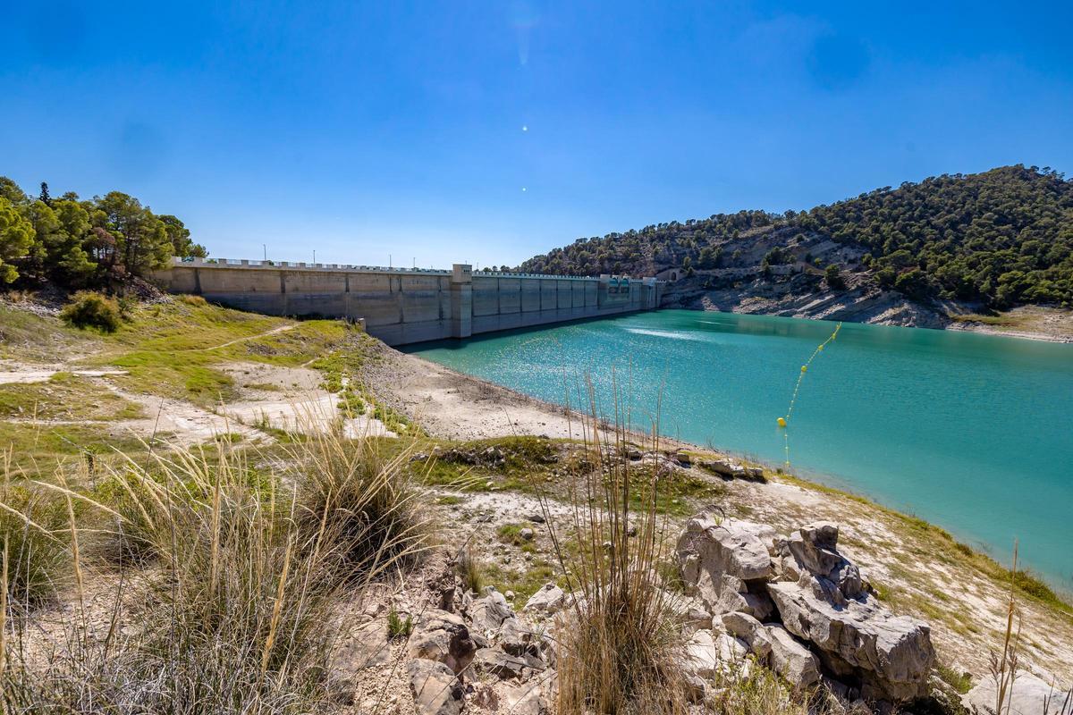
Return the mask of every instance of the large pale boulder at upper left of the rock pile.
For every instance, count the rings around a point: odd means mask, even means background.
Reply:
[[[686,524],[676,550],[687,592],[712,613],[739,610],[741,599],[734,594],[749,593],[750,582],[763,583],[774,574],[766,546],[774,535],[770,526],[720,519],[714,509],[696,515]],[[732,602],[720,604],[724,591]]]

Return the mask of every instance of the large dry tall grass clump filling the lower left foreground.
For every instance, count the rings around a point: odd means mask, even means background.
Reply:
[[[86,528],[68,496],[78,604],[47,643],[31,647],[28,629],[8,628],[0,712],[333,706],[326,673],[343,596],[418,550],[423,532],[403,526],[417,511],[399,483],[406,471],[362,463],[364,441],[296,437],[290,449],[285,472],[269,474],[225,442],[129,457],[108,467],[106,489],[77,495],[101,515]],[[79,535],[84,554],[103,539],[97,572],[79,558]],[[91,579],[108,584],[104,607],[100,593],[85,595]]]

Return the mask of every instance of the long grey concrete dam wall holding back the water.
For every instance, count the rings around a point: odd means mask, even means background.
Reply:
[[[659,307],[662,281],[176,259],[155,274],[171,293],[267,315],[348,317],[388,345],[614,315]]]

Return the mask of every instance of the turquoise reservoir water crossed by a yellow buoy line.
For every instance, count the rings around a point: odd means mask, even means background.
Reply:
[[[658,311],[428,343],[409,352],[563,402],[585,376],[630,384],[646,427],[783,460],[776,418],[833,323]],[[789,427],[812,479],[940,524],[1073,589],[1073,345],[847,323],[812,363]]]

